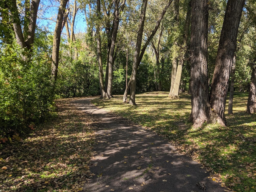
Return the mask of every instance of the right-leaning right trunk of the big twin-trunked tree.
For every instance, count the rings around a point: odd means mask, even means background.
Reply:
[[[245,0],[228,0],[211,83],[211,107],[225,122],[225,105],[238,27]]]

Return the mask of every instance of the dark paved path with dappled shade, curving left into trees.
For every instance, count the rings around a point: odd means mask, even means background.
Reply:
[[[200,164],[180,155],[163,137],[98,109],[91,99],[71,102],[92,115],[93,125],[98,127],[97,154],[90,166],[95,176],[83,191],[224,191],[220,183],[208,178],[209,173]]]

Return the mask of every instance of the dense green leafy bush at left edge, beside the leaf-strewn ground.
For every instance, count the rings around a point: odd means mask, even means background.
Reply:
[[[49,59],[43,57],[44,53],[25,62],[21,55],[27,52],[16,44],[4,44],[0,51],[0,137],[3,137],[30,130],[28,125],[39,122],[53,106]]]

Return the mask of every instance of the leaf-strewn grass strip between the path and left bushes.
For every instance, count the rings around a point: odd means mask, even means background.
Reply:
[[[76,98],[77,99],[77,98]],[[63,99],[33,133],[0,148],[0,191],[80,191],[93,154],[93,121]]]

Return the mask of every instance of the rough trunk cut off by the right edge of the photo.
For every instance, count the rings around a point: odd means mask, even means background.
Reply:
[[[256,59],[253,61],[252,77],[247,102],[247,113],[256,113]]]

